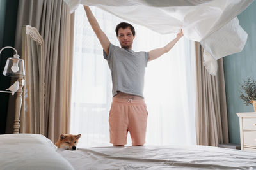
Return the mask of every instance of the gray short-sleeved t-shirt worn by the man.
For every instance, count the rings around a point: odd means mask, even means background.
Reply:
[[[144,97],[144,76],[148,52],[134,52],[110,43],[109,55],[104,51],[103,55],[111,71],[113,96],[120,91]]]

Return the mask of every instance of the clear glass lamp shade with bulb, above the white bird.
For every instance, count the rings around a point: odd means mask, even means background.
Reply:
[[[16,57],[9,57],[6,61],[3,75],[10,77],[25,76],[24,60]]]

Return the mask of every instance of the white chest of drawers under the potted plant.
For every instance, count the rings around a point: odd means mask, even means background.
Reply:
[[[240,121],[241,150],[256,152],[256,112],[236,114]]]

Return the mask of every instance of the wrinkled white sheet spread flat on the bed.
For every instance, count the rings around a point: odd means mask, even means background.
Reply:
[[[210,146],[58,149],[74,169],[256,169],[256,153]]]

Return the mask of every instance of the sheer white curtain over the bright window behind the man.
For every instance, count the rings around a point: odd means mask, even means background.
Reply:
[[[119,45],[115,27],[125,20],[99,8],[90,8],[111,43]],[[136,30],[132,46],[134,51],[159,48],[175,38],[175,34],[161,35],[131,24]],[[111,146],[108,125],[112,100],[111,74],[83,6],[76,10],[74,34],[70,132],[82,134],[79,147]],[[182,38],[170,52],[148,62],[144,89],[148,108],[145,145],[196,144],[191,49],[191,42]],[[131,139],[128,139],[127,145],[131,145]]]

